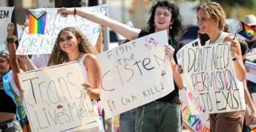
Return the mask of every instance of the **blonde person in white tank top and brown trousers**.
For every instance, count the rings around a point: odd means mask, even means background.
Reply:
[[[231,42],[230,49],[235,74],[238,81],[244,81],[245,67],[241,58],[239,41],[237,38],[234,39],[233,34],[227,33],[228,25],[225,24],[225,13],[219,3],[203,3],[197,7],[196,12],[199,32],[201,34],[207,34],[210,38],[210,40],[205,42],[205,46]],[[239,91],[243,93],[243,85],[241,85]],[[243,94],[241,96],[243,97]],[[209,114],[210,131],[242,131],[244,114],[245,111]]]

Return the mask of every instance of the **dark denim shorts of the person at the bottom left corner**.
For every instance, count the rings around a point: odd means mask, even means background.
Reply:
[[[0,123],[1,132],[22,132],[21,125],[16,119],[3,121]]]

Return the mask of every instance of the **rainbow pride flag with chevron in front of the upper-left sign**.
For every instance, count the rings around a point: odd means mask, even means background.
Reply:
[[[45,34],[46,11],[29,10],[29,34]]]

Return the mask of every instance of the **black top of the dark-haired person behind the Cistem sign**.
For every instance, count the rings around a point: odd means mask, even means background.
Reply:
[[[146,36],[150,33],[142,30],[140,32],[140,34],[138,35],[138,38],[142,37],[142,36]],[[168,40],[168,44],[171,45],[171,41]],[[171,45],[175,51],[174,51],[174,60],[177,63],[177,57],[176,54],[177,52],[180,50],[180,48],[182,48],[182,46],[184,46],[184,44],[182,44],[181,42],[178,42],[177,40],[172,39],[172,45]],[[166,96],[159,98],[158,100],[162,101],[162,102],[172,102],[172,103],[177,103],[180,104],[180,98],[179,98],[179,88],[176,85],[176,83],[174,82],[174,90],[170,93],[167,94]]]

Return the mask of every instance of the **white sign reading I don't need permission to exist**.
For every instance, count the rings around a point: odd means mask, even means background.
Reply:
[[[182,80],[192,114],[245,110],[230,42],[182,49]]]

